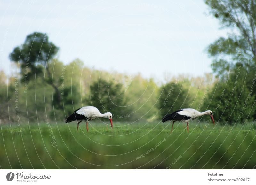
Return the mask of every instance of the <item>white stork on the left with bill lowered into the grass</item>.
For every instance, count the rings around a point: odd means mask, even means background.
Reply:
[[[79,121],[77,123],[77,129],[78,130],[79,124],[81,121],[85,120],[86,121],[86,129],[88,132],[88,121],[91,121],[96,118],[108,118],[111,124],[111,127],[113,128],[113,123],[112,123],[112,114],[110,112],[106,112],[105,114],[101,114],[100,111],[93,106],[87,106],[87,107],[82,107],[74,111],[73,114],[71,114],[67,119],[66,123],[69,123],[71,121]]]

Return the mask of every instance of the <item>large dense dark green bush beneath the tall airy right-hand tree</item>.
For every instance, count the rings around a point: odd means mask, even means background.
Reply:
[[[234,125],[252,120],[256,112],[255,94],[246,86],[247,70],[237,64],[237,71],[230,72],[228,81],[220,79],[208,93],[204,109],[211,109],[214,119],[220,124]]]

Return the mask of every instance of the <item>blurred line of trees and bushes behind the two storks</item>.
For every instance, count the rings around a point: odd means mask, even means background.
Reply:
[[[158,84],[140,74],[115,75],[86,67],[75,59],[56,59],[59,47],[45,33],[34,32],[10,53],[17,74],[0,71],[2,123],[64,121],[82,106],[112,112],[117,121],[161,121],[181,108],[212,110],[222,124],[256,119],[256,6],[252,0],[208,0],[210,15],[230,28],[206,49],[212,74],[169,79]],[[236,31],[234,31],[236,30]],[[206,118],[203,118],[206,119]]]

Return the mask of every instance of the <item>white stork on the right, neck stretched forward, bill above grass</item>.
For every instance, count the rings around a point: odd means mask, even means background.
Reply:
[[[203,115],[207,115],[207,114],[210,115],[213,124],[215,124],[213,115],[212,115],[212,111],[208,110],[208,111],[204,111],[204,112],[199,112],[195,109],[180,109],[178,111],[172,112],[171,114],[164,116],[162,121],[163,122],[169,121],[169,120],[173,121],[172,122],[172,130],[173,130],[173,124],[175,121],[187,123],[187,130],[188,130],[188,122],[189,121],[194,120],[199,116],[203,116]],[[171,130],[171,132],[172,132],[172,130]]]

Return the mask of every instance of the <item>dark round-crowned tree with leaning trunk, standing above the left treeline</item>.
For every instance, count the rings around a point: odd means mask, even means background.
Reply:
[[[46,72],[45,82],[50,84],[57,94],[57,107],[61,107],[61,96],[58,84],[53,81],[49,63],[56,56],[59,48],[49,41],[48,35],[34,32],[26,37],[25,42],[15,47],[10,54],[10,59],[20,64],[23,80],[30,81],[35,75]]]

